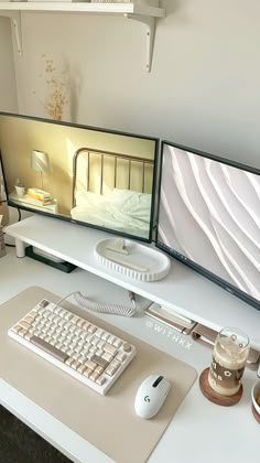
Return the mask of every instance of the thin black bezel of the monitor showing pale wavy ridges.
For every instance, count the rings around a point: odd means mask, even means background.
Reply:
[[[183,144],[178,144],[172,141],[162,140],[161,141],[161,149],[160,149],[160,166],[158,169],[159,172],[159,181],[158,181],[158,204],[156,204],[156,211],[155,211],[155,246],[167,254],[169,256],[175,258],[180,262],[184,263],[185,266],[189,267],[191,269],[195,270],[196,272],[201,273],[203,277],[207,278],[208,280],[213,281],[217,286],[221,287],[229,293],[234,294],[238,299],[242,300],[243,302],[248,303],[249,305],[252,305],[254,309],[260,311],[260,301],[252,298],[250,294],[241,291],[239,288],[235,287],[232,283],[224,280],[223,278],[218,277],[216,273],[213,273],[212,271],[207,270],[205,267],[199,266],[198,263],[194,262],[193,260],[188,259],[186,256],[182,255],[181,252],[169,249],[165,245],[162,245],[159,241],[159,219],[160,219],[160,202],[161,202],[161,183],[162,183],[162,163],[163,163],[163,151],[164,147],[170,146],[173,148],[178,148],[183,151],[191,152],[193,154],[201,155],[203,158],[212,159],[213,161],[221,162],[226,165],[230,165],[232,168],[240,169],[242,171],[247,171],[257,175],[260,175],[260,170],[252,168],[247,164],[242,164],[240,162],[236,162],[234,160],[219,157],[216,154],[207,153],[205,151],[201,151],[194,148],[189,148]]]

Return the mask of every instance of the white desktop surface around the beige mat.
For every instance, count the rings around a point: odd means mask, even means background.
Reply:
[[[212,286],[210,282],[208,284]],[[83,269],[76,269],[73,273],[66,274],[26,257],[18,259],[14,250],[8,248],[8,255],[0,259],[0,303],[31,286],[41,286],[61,297],[79,290],[89,297],[98,295],[100,300],[104,298],[104,301],[109,298],[111,302],[129,303],[127,291],[112,282]],[[101,291],[100,288],[102,288]],[[230,298],[229,294],[227,298]],[[100,314],[99,316],[100,319],[109,317],[110,323],[126,332],[193,365],[198,375],[210,363],[210,349],[177,333],[176,336],[167,337],[165,332],[158,331],[160,324],[148,316],[141,315],[133,319]],[[260,321],[260,313],[258,320]],[[250,409],[250,390],[257,379],[256,372],[246,370],[242,398],[230,408],[218,407],[207,401],[202,396],[198,381],[196,381],[149,459],[149,463],[208,463],[209,461],[212,463],[219,463],[219,461],[258,463],[259,424]],[[108,456],[2,379],[0,379],[0,401],[73,461],[111,462]]]

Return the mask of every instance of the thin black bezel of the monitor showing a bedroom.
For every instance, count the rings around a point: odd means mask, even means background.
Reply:
[[[124,238],[134,239],[134,240],[142,241],[142,243],[149,243],[149,244],[152,243],[153,229],[154,229],[154,211],[155,211],[154,204],[155,204],[155,194],[156,194],[156,177],[158,177],[158,163],[159,163],[158,162],[159,144],[160,144],[159,138],[152,137],[152,136],[150,137],[148,134],[144,136],[144,134],[141,134],[141,133],[124,132],[124,131],[116,130],[116,129],[106,129],[106,128],[101,128],[101,127],[87,126],[87,125],[83,125],[83,123],[73,123],[73,122],[63,121],[63,120],[59,121],[59,120],[47,119],[47,118],[42,118],[42,117],[37,117],[37,116],[20,115],[20,114],[15,114],[15,112],[0,111],[0,116],[15,117],[15,118],[20,118],[20,119],[35,120],[35,121],[39,121],[39,122],[45,122],[45,123],[52,123],[52,125],[58,125],[58,126],[65,126],[65,127],[73,127],[73,128],[78,128],[78,129],[99,131],[99,132],[102,132],[102,133],[111,133],[111,134],[118,134],[118,136],[123,136],[123,137],[132,137],[132,138],[139,138],[139,139],[143,139],[143,140],[154,141],[154,143],[155,143],[155,146],[154,146],[154,165],[153,165],[153,176],[152,176],[152,197],[151,197],[150,227],[149,227],[148,238],[137,236],[137,235],[132,235],[132,234],[122,233],[120,230],[116,230],[116,229],[111,229],[111,228],[101,227],[101,226],[94,225],[94,224],[90,224],[90,223],[87,223],[87,222],[76,220],[74,218],[71,218],[71,217],[62,215],[62,214],[53,214],[51,212],[46,213],[44,211],[35,209],[35,208],[26,206],[26,205],[18,205],[17,203],[14,203],[13,201],[11,201],[9,198],[8,191],[7,191],[7,185],[6,185],[7,203],[8,203],[9,206],[15,207],[17,209],[28,211],[28,212],[31,212],[31,213],[34,213],[34,214],[44,215],[46,217],[57,218],[57,219],[61,219],[61,220],[64,220],[64,222],[68,222],[68,223],[76,224],[76,225],[82,225],[82,226],[85,226],[87,228],[93,228],[93,229],[97,229],[97,230],[101,230],[101,232],[107,232],[107,233],[113,234],[116,236],[122,236]]]

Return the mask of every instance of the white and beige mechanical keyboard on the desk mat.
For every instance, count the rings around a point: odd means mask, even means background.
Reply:
[[[46,299],[8,334],[101,395],[137,353],[128,342]]]

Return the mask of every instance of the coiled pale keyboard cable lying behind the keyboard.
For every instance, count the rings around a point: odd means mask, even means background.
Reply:
[[[127,308],[120,304],[106,304],[106,303],[91,301],[90,299],[83,295],[80,291],[71,292],[69,294],[59,299],[56,302],[56,304],[59,305],[63,301],[65,301],[65,299],[68,299],[69,297],[73,297],[75,302],[82,305],[83,308],[91,310],[94,312],[110,313],[110,314],[122,315],[122,316],[132,316],[137,312],[134,308]]]

